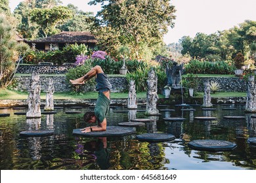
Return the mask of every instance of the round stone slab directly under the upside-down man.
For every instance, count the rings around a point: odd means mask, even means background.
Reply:
[[[106,131],[91,131],[88,133],[81,133],[80,129],[73,129],[73,135],[83,135],[85,137],[112,137],[125,136],[136,133],[132,127],[121,126],[107,126]]]

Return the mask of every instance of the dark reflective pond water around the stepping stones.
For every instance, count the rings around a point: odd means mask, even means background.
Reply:
[[[160,111],[161,116],[144,116],[144,106],[129,112],[125,107],[112,107],[107,117],[108,125],[118,125],[133,118],[154,118],[136,127],[135,135],[125,137],[88,138],[75,136],[73,129],[85,127],[83,113],[93,108],[56,108],[56,114],[42,114],[40,119],[26,119],[14,112],[26,109],[0,109],[10,113],[0,118],[0,168],[3,169],[178,169],[178,170],[241,170],[256,169],[256,146],[247,143],[249,137],[256,137],[256,119],[244,113],[243,105],[216,105],[217,110],[182,111],[175,106],[158,106],[158,109],[172,108],[175,111]],[[233,110],[223,110],[230,108]],[[236,108],[236,110],[234,110]],[[81,114],[66,114],[79,110]],[[140,112],[142,110],[142,112]],[[183,122],[167,122],[163,118],[183,117]],[[217,120],[194,120],[196,116],[215,116]],[[228,120],[223,116],[245,116],[245,119]],[[46,137],[20,137],[28,129],[53,129],[54,135]],[[137,134],[171,133],[176,139],[169,142],[140,142]],[[227,152],[193,150],[188,142],[198,139],[216,139],[237,144]]]

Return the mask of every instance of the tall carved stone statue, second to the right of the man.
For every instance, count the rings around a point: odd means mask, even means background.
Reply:
[[[146,93],[146,115],[159,114],[156,108],[156,103],[158,101],[158,76],[154,72],[154,69],[150,69],[148,72],[148,80],[146,81],[148,85],[148,91]]]

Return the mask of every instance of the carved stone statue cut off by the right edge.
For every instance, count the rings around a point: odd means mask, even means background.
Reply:
[[[246,104],[245,104],[245,111],[246,112],[256,112],[256,87],[254,76],[249,76],[247,82],[247,97],[246,97]]]

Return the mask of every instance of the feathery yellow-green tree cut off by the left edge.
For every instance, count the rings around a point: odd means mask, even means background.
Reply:
[[[14,34],[5,16],[0,16],[0,88],[11,84],[22,56],[29,49],[28,44],[16,42]]]

